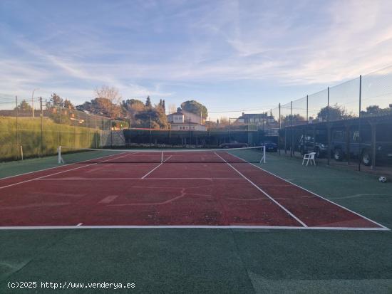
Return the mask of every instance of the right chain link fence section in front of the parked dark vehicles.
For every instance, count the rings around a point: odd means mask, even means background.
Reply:
[[[316,152],[326,164],[390,169],[392,66],[279,104],[273,117],[284,154]]]

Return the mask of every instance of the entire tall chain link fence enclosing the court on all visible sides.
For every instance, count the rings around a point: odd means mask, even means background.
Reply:
[[[46,107],[41,98],[0,95],[0,159],[43,157],[55,154],[59,145],[218,147],[271,140],[279,154],[291,157],[316,152],[326,164],[391,166],[392,66],[279,103],[253,117],[230,117],[225,126],[206,122],[205,130],[121,130],[118,125],[126,124],[75,109]]]

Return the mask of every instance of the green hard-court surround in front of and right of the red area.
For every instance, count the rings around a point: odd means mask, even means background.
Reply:
[[[20,164],[19,172],[29,164]],[[274,154],[262,167],[392,227],[391,182],[334,167],[302,167],[299,159]],[[21,280],[136,286],[64,293],[392,293],[391,244],[391,231],[0,231],[0,293],[60,291],[6,288]]]

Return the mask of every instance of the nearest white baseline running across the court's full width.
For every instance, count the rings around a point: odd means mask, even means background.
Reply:
[[[390,231],[388,228],[351,228],[339,226],[0,226],[1,230],[48,230],[48,229],[293,229],[324,231]]]

